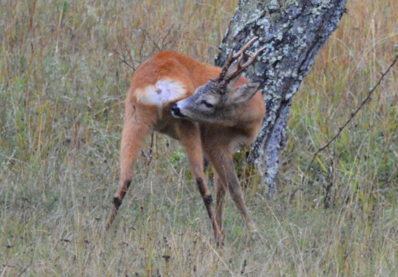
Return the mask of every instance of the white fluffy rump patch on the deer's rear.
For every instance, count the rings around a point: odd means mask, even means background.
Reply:
[[[171,79],[159,80],[155,85],[139,89],[135,94],[138,102],[158,108],[187,97],[185,87]]]

